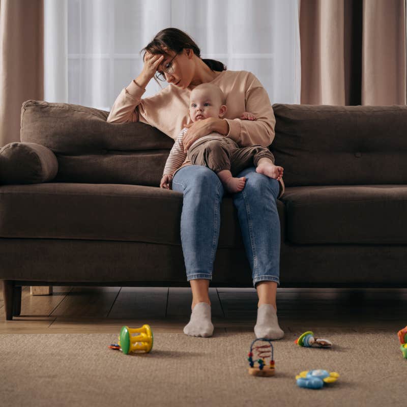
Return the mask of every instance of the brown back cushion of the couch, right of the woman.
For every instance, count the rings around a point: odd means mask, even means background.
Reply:
[[[285,186],[405,184],[407,106],[273,105]]]

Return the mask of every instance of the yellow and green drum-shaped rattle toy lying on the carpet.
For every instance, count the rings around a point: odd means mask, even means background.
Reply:
[[[149,353],[153,348],[154,335],[150,325],[141,328],[123,326],[120,331],[119,343],[112,343],[109,348],[122,351],[128,355],[133,352]]]

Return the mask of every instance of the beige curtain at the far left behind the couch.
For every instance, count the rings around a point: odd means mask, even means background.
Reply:
[[[44,98],[43,0],[0,0],[0,147],[20,141],[21,104]]]

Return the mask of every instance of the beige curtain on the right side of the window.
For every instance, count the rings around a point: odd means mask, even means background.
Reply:
[[[405,0],[301,0],[301,103],[406,103]]]

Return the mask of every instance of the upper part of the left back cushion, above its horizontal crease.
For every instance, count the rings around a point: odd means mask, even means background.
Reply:
[[[171,149],[173,139],[145,123],[107,123],[109,112],[70,103],[27,100],[21,107],[21,141],[55,154]]]

